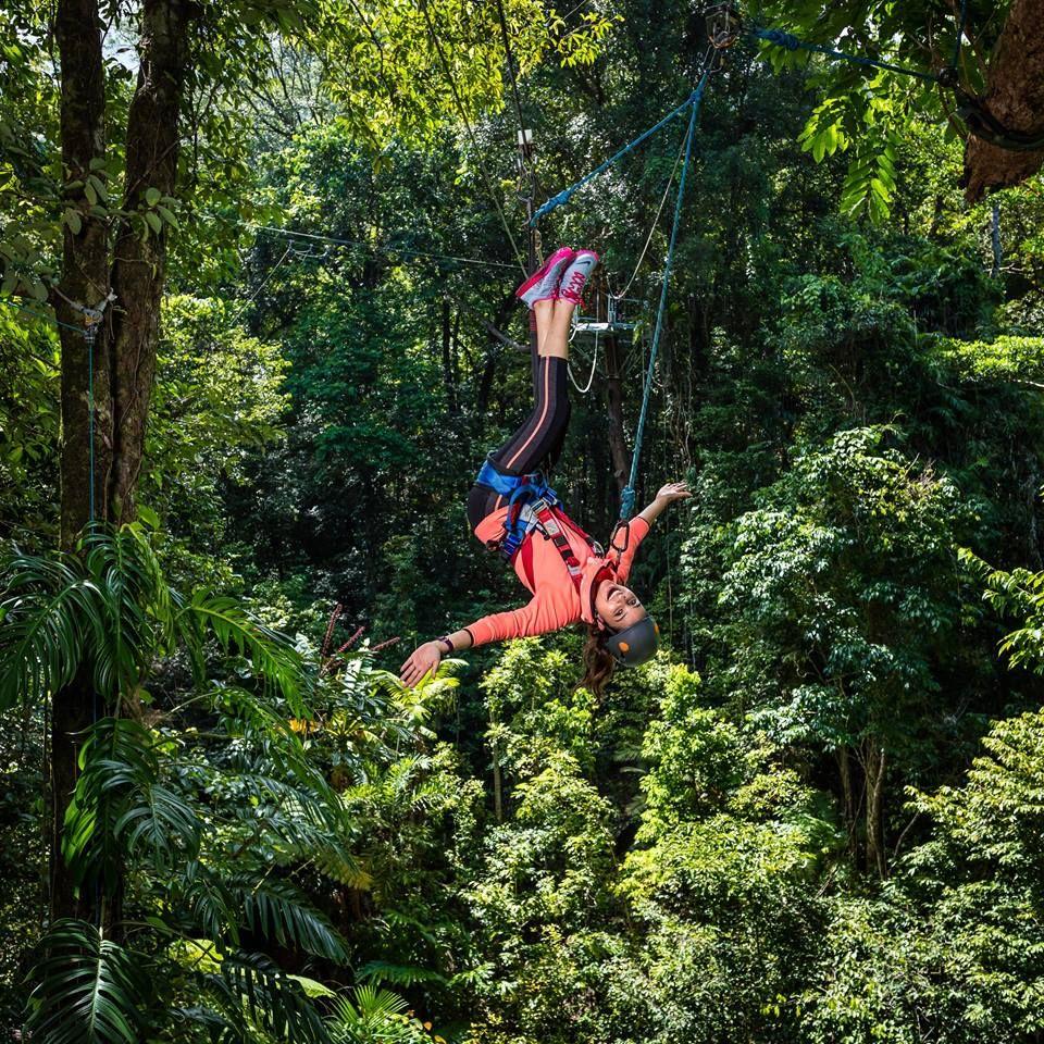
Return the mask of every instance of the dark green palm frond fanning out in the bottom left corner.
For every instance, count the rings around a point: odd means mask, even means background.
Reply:
[[[149,978],[144,957],[123,949],[86,921],[55,921],[29,973],[28,1029],[47,1044],[136,1044],[141,1040]]]

